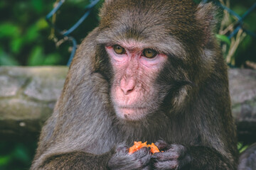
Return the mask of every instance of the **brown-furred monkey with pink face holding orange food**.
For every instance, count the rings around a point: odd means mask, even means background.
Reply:
[[[237,169],[216,7],[107,0],[82,41],[34,169]],[[159,153],[134,141],[155,142]]]

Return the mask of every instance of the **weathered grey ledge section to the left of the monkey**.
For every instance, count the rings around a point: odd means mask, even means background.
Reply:
[[[0,139],[37,140],[68,67],[0,67]]]

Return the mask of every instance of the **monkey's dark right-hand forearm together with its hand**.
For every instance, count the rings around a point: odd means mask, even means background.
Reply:
[[[168,145],[164,141],[156,142],[156,146],[164,152],[154,154],[155,169],[234,170],[236,167],[234,160],[210,147]]]

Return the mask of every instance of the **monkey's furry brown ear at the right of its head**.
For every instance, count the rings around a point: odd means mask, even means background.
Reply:
[[[206,46],[210,42],[215,33],[215,26],[218,23],[216,18],[217,7],[212,3],[200,3],[197,7],[196,18],[203,30],[203,46]]]

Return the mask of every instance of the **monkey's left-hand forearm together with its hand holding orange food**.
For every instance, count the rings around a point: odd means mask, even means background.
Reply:
[[[66,152],[41,157],[31,170],[36,169],[148,169],[151,155],[149,148],[142,148],[134,154],[128,154],[128,147],[120,145],[115,152],[112,149],[105,154],[86,152]]]

